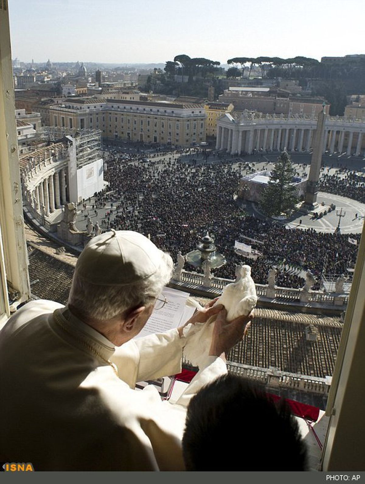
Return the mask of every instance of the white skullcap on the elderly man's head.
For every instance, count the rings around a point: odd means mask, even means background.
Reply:
[[[164,253],[132,230],[112,230],[93,237],[77,259],[75,272],[91,284],[126,286],[152,276]]]

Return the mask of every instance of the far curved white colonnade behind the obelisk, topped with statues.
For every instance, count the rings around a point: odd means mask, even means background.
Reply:
[[[235,121],[229,123],[226,120],[218,121],[216,149],[226,150],[231,154],[252,153],[254,150],[283,151],[284,149],[310,152],[313,149],[316,122],[300,126],[289,123],[289,125],[284,123],[270,125],[268,120],[265,121],[265,126],[260,126],[258,122],[250,125]],[[350,129],[340,124],[328,126],[324,132],[323,152],[365,155],[364,133],[365,122],[362,126]]]

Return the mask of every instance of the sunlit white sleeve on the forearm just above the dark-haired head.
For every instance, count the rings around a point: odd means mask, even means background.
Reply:
[[[207,356],[200,364],[200,368],[195,377],[191,380],[186,390],[182,393],[176,405],[187,407],[191,398],[198,393],[204,386],[211,383],[221,375],[226,375],[226,363],[219,356]]]

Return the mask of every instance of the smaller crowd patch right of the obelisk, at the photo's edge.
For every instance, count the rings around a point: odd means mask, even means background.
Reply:
[[[319,179],[319,190],[365,203],[365,176],[346,168],[337,170],[333,175],[323,173]]]

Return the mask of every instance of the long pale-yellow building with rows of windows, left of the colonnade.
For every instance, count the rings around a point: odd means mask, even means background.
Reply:
[[[204,107],[198,104],[70,99],[51,106],[50,125],[99,129],[104,139],[193,146],[206,139]]]

